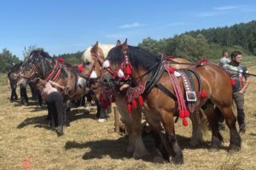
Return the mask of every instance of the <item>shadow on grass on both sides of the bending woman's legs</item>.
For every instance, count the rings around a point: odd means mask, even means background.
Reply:
[[[28,108],[31,109],[31,108]],[[39,106],[32,108],[34,111],[37,109],[42,110]],[[94,114],[89,114],[88,112],[85,112],[84,110],[72,110],[69,113],[67,113],[67,119],[69,122],[73,122],[82,118],[90,118],[90,119],[96,119],[96,116]],[[45,127],[49,128],[49,122],[46,121],[46,115],[45,116],[33,116],[33,117],[27,117],[23,122],[20,122],[20,124],[17,126],[17,128],[23,128],[29,125],[34,125],[34,127]]]

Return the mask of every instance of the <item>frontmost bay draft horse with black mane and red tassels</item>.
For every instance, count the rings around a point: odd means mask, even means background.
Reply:
[[[170,147],[171,161],[177,164],[183,163],[183,152],[177,144],[174,130],[173,117],[178,116],[176,100],[170,98],[169,95],[167,95],[168,93],[164,93],[156,86],[161,84],[173,94],[175,87],[173,83],[170,83],[171,71],[166,70],[160,72],[159,70],[162,68],[161,65],[163,65],[163,63],[157,56],[149,54],[141,48],[128,46],[127,41],[112,48],[108,52],[107,59],[108,60],[105,61],[105,68],[108,74],[106,73],[106,75],[102,77],[102,84],[104,84],[104,82],[113,82],[116,84],[117,80],[119,84],[120,82],[130,82],[132,87],[138,87],[142,82],[146,83],[146,85],[150,84],[150,87],[148,88],[148,86],[146,86],[146,89],[143,91],[142,96],[144,102],[141,109],[150,127],[153,128],[155,144],[166,161],[170,161],[167,151],[167,147]],[[130,67],[132,71],[128,71],[127,67]],[[171,67],[168,69],[171,70]],[[193,74],[197,94],[200,94],[201,90],[207,94],[204,98],[198,99],[196,107],[199,108],[203,106],[202,108],[207,112],[207,119],[212,128],[211,150],[218,150],[223,140],[218,131],[218,116],[214,113],[213,105],[217,105],[220,111],[222,111],[225,122],[230,128],[229,149],[240,150],[241,137],[236,129],[236,116],[232,111],[230,77],[223,69],[216,65],[201,65],[195,67],[193,70],[201,77],[200,84],[198,77]],[[156,75],[156,71],[159,71],[160,74]],[[148,77],[158,77],[154,79],[158,80],[152,83]],[[183,82],[180,77],[177,77],[177,83],[179,87],[182,88],[181,94],[184,94]],[[116,85],[118,89],[119,86]],[[139,101],[141,104],[141,99],[139,99]],[[129,109],[129,107],[127,108]],[[133,112],[131,115],[133,115]],[[167,144],[163,134],[160,132],[161,124],[166,132]]]

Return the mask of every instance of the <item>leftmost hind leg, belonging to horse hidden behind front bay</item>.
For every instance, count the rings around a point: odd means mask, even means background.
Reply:
[[[203,135],[201,132],[201,120],[200,120],[200,109],[196,110],[194,113],[189,115],[192,122],[192,137],[190,140],[190,145],[195,147],[201,144],[203,141]]]

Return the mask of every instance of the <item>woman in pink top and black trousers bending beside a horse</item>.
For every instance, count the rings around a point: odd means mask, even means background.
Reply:
[[[56,133],[58,136],[64,134],[63,132],[63,99],[57,88],[65,89],[57,82],[41,82],[44,84],[42,89],[42,98],[45,100],[48,109],[48,116],[51,116],[54,120],[52,127],[56,127]]]

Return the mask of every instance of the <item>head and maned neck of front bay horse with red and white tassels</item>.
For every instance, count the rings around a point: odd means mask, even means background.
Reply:
[[[127,44],[127,39],[122,44],[117,42],[116,46],[108,52],[107,60],[103,68],[109,74],[102,77],[102,82],[115,81],[124,84],[134,82],[138,77],[146,75],[153,66],[160,62],[160,59],[148,53],[142,48],[133,47]]]

